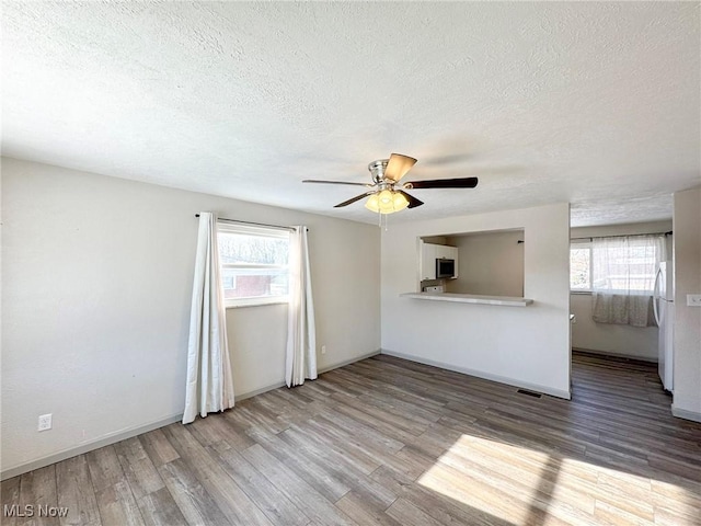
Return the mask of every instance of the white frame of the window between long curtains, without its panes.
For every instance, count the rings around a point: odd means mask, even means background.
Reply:
[[[265,226],[252,226],[242,225],[238,222],[217,221],[217,248],[219,249],[219,272],[222,275],[222,289],[223,289],[223,272],[227,268],[271,268],[271,270],[284,270],[287,271],[289,276],[289,250],[288,261],[286,264],[265,264],[265,263],[225,263],[221,259],[221,244],[219,240],[220,235],[241,235],[260,238],[274,238],[284,239],[290,241],[290,230],[284,227],[265,227]],[[234,279],[238,276],[234,276]],[[240,307],[257,307],[264,305],[287,305],[289,304],[289,288],[288,294],[280,296],[250,296],[243,298],[223,298],[225,308],[235,309]]]

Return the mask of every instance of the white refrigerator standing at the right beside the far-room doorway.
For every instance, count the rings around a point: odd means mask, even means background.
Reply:
[[[674,391],[673,362],[674,327],[675,327],[675,295],[671,261],[663,261],[655,276],[655,291],[653,294],[653,310],[655,321],[659,328],[658,370],[665,390]]]

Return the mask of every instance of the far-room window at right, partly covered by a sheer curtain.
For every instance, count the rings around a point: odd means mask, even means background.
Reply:
[[[664,259],[660,236],[619,236],[570,244],[570,289],[573,293],[652,295],[655,273]]]

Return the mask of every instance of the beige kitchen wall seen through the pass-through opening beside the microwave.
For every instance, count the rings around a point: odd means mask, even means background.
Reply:
[[[447,291],[483,296],[524,296],[524,232],[486,232],[452,236],[458,248],[458,278]]]

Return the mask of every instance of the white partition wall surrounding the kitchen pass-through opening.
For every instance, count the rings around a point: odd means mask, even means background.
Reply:
[[[416,291],[417,237],[525,229],[525,297],[502,307],[400,297]],[[382,233],[382,352],[560,397],[570,393],[570,207],[392,225]]]

